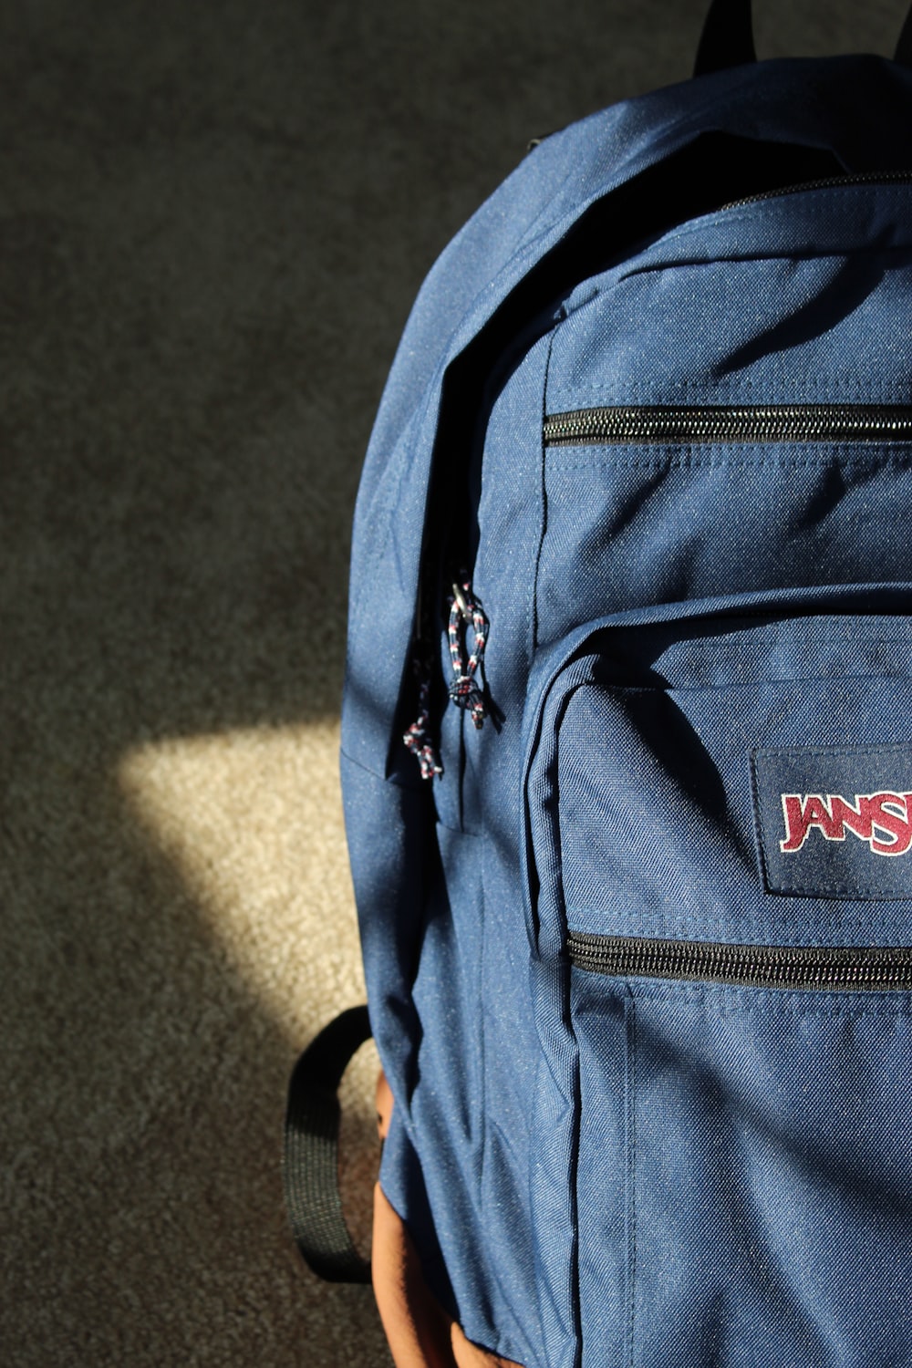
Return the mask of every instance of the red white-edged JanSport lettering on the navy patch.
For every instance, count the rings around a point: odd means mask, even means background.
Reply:
[[[844,841],[846,832],[867,841],[872,855],[905,855],[912,848],[912,793],[782,793],[783,855],[804,847],[812,833]]]

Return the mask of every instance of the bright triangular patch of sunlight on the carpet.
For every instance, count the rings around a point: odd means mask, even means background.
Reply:
[[[338,722],[172,737],[119,784],[213,940],[302,1038],[364,1001],[342,824]]]

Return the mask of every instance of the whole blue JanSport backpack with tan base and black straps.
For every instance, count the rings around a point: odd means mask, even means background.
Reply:
[[[911,66],[908,21],[757,63],[715,0],[407,324],[342,718],[369,1025],[287,1150],[364,1276],[317,1189],[372,1030],[401,1368],[912,1364]]]

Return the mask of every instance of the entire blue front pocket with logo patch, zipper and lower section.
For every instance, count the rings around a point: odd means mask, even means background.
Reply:
[[[529,720],[585,1365],[912,1361],[912,628],[860,602],[606,620]]]

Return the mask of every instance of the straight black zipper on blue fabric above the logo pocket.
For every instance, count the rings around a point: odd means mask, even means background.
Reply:
[[[711,442],[909,442],[902,404],[648,405],[576,409],[544,420],[546,446]]]

